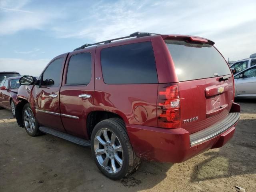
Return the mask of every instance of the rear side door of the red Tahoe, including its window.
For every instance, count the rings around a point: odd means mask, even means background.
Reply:
[[[82,51],[67,58],[60,88],[60,115],[68,134],[89,139],[86,119],[93,107],[95,47]]]

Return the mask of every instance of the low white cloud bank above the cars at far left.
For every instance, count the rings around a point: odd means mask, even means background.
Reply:
[[[21,75],[39,76],[49,61],[50,59],[0,58],[0,71],[17,71]]]

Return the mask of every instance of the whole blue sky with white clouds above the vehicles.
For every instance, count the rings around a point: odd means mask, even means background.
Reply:
[[[133,32],[215,42],[226,60],[256,52],[255,0],[0,0],[0,71],[38,76],[59,54]]]

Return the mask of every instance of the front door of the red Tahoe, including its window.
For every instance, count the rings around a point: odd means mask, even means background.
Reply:
[[[60,118],[60,86],[67,54],[50,62],[34,87],[36,119],[40,125],[65,132]]]

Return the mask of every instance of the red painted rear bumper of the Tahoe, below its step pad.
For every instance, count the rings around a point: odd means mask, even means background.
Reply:
[[[210,148],[223,146],[232,138],[235,130],[233,126],[220,136],[190,147],[189,132],[182,128],[161,129],[128,124],[126,128],[138,156],[145,160],[172,163],[184,162]]]

